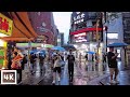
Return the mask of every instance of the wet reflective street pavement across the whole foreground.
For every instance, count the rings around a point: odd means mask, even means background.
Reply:
[[[121,63],[118,63],[118,66],[120,70],[118,75],[120,83],[118,85],[130,85],[130,69],[125,69]],[[25,70],[23,71],[22,83],[18,85],[52,85],[53,72],[50,65],[46,63],[43,71],[40,72],[39,63],[37,61],[35,71],[36,72],[31,74],[28,65],[26,65]],[[82,61],[80,64],[76,60],[73,85],[108,85],[108,82],[109,72],[106,64],[95,64],[93,61]],[[67,63],[62,69],[60,85],[72,85],[68,82]]]

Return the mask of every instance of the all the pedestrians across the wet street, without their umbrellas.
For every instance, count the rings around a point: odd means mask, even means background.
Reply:
[[[22,81],[22,71],[24,70],[25,64],[28,63],[27,60],[27,55],[22,54],[21,50],[14,47],[12,51],[12,63],[10,65],[10,69],[16,70],[17,73],[20,73],[20,79],[18,83]],[[114,47],[109,47],[109,52],[104,55],[104,60],[106,63],[106,57],[107,57],[107,63],[108,63],[108,68],[109,68],[109,73],[110,73],[110,83],[118,83],[117,81],[117,75],[118,75],[118,66],[117,66],[117,56],[118,54],[114,53]],[[86,59],[88,59],[88,56],[84,56]],[[35,73],[35,66],[36,66],[36,59],[39,58],[39,65],[40,65],[40,71],[42,72],[43,65],[44,65],[44,59],[46,56],[42,54],[39,54],[37,57],[35,54],[30,54],[29,60],[30,60],[30,72]],[[69,54],[66,55],[66,57],[61,54],[60,52],[53,53],[52,58],[51,58],[51,67],[53,70],[53,82],[52,84],[56,84],[56,72],[57,72],[57,81],[61,82],[61,73],[62,73],[62,64],[65,64],[67,60],[68,64],[68,78],[69,78],[69,83],[73,83],[74,81],[74,66],[75,66],[75,56],[73,54],[73,50],[69,50]],[[114,77],[115,74],[115,77]]]

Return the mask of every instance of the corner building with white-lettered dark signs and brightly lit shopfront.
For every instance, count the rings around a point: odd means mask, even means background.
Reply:
[[[100,52],[103,47],[102,15],[99,12],[73,12],[70,18],[69,43],[82,56],[87,52]],[[91,59],[91,55],[90,55]]]

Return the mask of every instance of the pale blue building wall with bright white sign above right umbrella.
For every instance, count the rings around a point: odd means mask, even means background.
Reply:
[[[115,17],[117,16],[117,17]],[[104,34],[104,52],[106,50],[106,42],[107,45],[115,43],[115,42],[123,42],[123,25],[122,25],[122,14],[121,13],[107,13],[107,36],[105,33],[105,31],[103,32]],[[106,37],[107,37],[107,41],[106,41]],[[108,51],[108,48],[107,48]],[[118,53],[120,52],[120,48],[117,48]],[[118,57],[120,57],[120,55],[123,54],[119,54]]]

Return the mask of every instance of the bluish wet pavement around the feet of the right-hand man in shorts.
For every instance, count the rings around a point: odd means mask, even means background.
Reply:
[[[109,83],[109,72],[106,70],[106,77],[100,77],[98,79],[91,80],[88,85],[130,85],[130,67],[125,67],[120,61],[118,61],[119,74],[117,80],[119,84]]]

